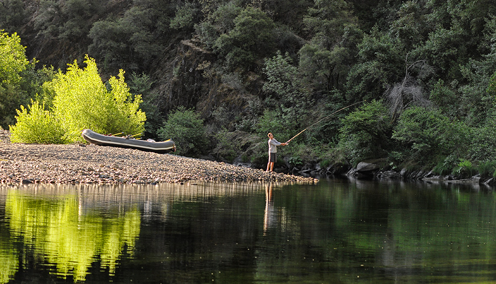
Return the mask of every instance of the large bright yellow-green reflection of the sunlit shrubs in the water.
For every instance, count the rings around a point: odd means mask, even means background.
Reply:
[[[23,241],[27,250],[34,251],[35,258],[54,264],[54,274],[63,279],[72,275],[74,282],[85,281],[88,269],[99,258],[100,268],[108,269],[113,276],[124,247],[132,255],[140,228],[137,208],[110,216],[83,214],[80,199],[74,195],[42,198],[10,190],[5,214],[9,217],[11,238]],[[11,241],[0,241],[2,260],[4,243]],[[5,263],[2,261],[2,266]]]

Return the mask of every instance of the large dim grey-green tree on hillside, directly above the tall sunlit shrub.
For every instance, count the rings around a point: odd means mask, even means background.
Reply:
[[[124,68],[143,72],[169,45],[174,4],[159,0],[134,1],[122,17],[97,21],[89,30],[90,54],[106,71]]]

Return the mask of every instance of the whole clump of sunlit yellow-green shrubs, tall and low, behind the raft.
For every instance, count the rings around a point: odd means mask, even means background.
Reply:
[[[10,126],[12,142],[62,144],[82,140],[81,130],[93,129],[99,133],[138,134],[144,131],[146,116],[139,110],[141,97],[129,93],[124,82],[124,71],[119,78],[109,79],[109,88],[100,79],[94,59],[87,57],[86,68],[77,61],[67,72],[59,71],[43,87],[54,97],[45,97],[45,104],[32,102],[29,111],[21,106],[17,123]]]

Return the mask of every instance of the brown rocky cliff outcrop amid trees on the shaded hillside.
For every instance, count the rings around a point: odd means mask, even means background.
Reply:
[[[206,120],[222,107],[225,120],[234,121],[261,92],[259,76],[251,72],[242,78],[238,73],[221,71],[217,57],[194,39],[181,41],[169,72],[158,85],[169,86],[162,91],[167,92],[170,108],[194,107]]]

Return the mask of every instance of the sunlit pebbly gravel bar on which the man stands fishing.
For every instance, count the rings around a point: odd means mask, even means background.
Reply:
[[[213,161],[86,144],[10,143],[0,130],[0,183],[194,183],[194,181],[315,183],[317,179],[267,173]]]

